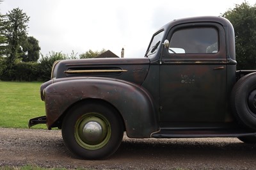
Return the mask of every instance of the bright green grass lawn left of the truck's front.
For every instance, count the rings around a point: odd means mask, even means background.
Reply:
[[[45,115],[41,84],[0,81],[0,127],[28,128],[29,119]],[[46,128],[46,125],[33,128]]]

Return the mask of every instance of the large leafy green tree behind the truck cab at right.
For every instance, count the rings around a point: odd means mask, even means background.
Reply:
[[[223,17],[230,20],[236,35],[237,70],[256,68],[256,6],[244,2],[236,4]]]

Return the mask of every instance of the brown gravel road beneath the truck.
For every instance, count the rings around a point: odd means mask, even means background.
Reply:
[[[236,138],[129,139],[107,160],[80,160],[60,130],[0,128],[0,167],[76,169],[256,169],[256,145]]]

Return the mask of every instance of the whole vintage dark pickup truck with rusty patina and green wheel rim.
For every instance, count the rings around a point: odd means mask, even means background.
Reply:
[[[41,86],[46,123],[81,158],[131,138],[238,137],[256,143],[256,71],[236,70],[234,28],[223,17],[173,20],[144,58],[56,61]]]

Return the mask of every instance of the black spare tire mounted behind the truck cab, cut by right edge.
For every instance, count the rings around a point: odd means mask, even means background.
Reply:
[[[231,107],[239,123],[256,130],[256,73],[244,75],[236,82]]]

